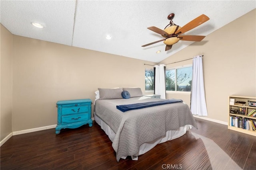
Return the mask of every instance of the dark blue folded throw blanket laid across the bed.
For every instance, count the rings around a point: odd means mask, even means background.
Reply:
[[[160,101],[156,101],[156,102],[145,102],[145,103],[119,105],[119,106],[116,106],[116,108],[122,112],[125,112],[128,110],[142,109],[145,107],[159,106],[159,105],[163,105],[163,104],[171,104],[171,103],[178,103],[178,102],[183,102],[183,101],[177,100],[177,99],[169,99],[169,100],[160,100]]]

